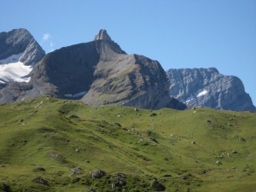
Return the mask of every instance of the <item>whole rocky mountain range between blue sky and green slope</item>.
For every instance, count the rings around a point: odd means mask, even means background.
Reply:
[[[127,55],[106,30],[47,55],[26,29],[1,32],[0,63],[0,102],[47,95],[93,107],[256,110],[240,79],[214,68],[165,72],[158,61]]]

